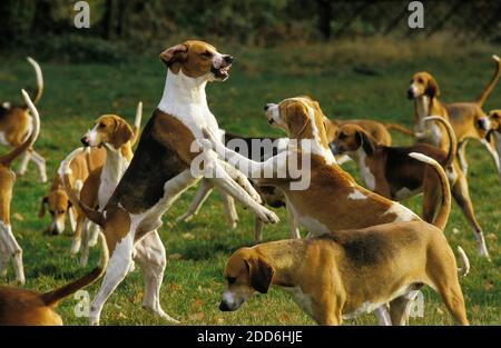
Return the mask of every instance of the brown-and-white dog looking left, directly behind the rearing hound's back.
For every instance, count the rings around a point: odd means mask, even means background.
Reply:
[[[88,207],[95,209],[106,207],[132,159],[132,146],[139,137],[141,118],[143,102],[137,106],[134,128],[117,115],[102,115],[94,122],[92,129],[80,139],[86,148],[104,148],[106,150],[105,163],[89,173],[80,191],[80,200]],[[71,158],[67,158],[66,161],[71,162]],[[69,183],[71,185],[71,182]],[[82,245],[80,255],[80,265],[82,266],[87,265],[89,248],[96,245],[99,233],[99,228],[94,222],[86,223],[85,220],[87,220],[85,216],[79,215],[71,245],[73,255],[80,250]]]

